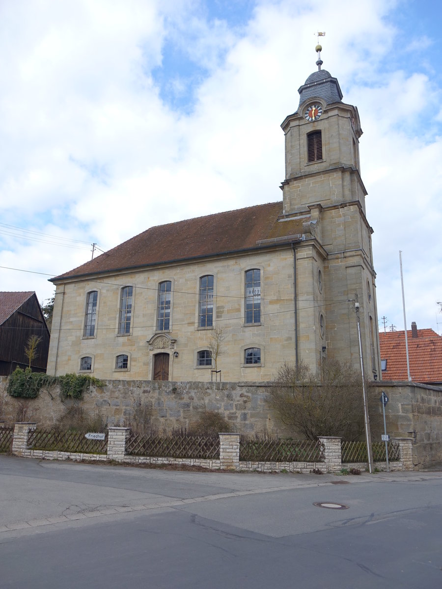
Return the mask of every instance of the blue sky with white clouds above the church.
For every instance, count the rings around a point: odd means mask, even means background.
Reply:
[[[441,12],[410,0],[2,3],[0,289],[43,300],[44,274],[83,263],[91,243],[280,200],[279,125],[316,68],[320,30],[323,67],[361,116],[378,315],[403,329],[401,249],[408,327],[441,333]]]

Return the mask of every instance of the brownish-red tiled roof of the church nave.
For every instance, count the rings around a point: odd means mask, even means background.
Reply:
[[[257,249],[265,246],[258,241],[302,234],[301,219],[278,221],[281,214],[279,201],[151,227],[51,280]]]

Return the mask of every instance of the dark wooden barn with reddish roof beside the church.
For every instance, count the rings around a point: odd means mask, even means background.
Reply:
[[[0,375],[9,375],[29,364],[25,347],[29,336],[41,341],[32,360],[34,372],[45,372],[50,333],[35,292],[0,292]]]

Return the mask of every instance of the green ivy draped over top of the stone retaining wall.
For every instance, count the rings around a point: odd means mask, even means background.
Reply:
[[[35,399],[44,386],[60,385],[62,399],[81,399],[88,386],[103,386],[104,383],[87,374],[65,374],[50,376],[44,372],[32,372],[30,368],[17,368],[8,379],[8,393],[12,397]]]

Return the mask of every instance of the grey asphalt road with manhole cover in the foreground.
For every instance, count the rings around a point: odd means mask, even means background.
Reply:
[[[0,588],[40,587],[440,589],[442,473],[221,474],[0,455]]]

